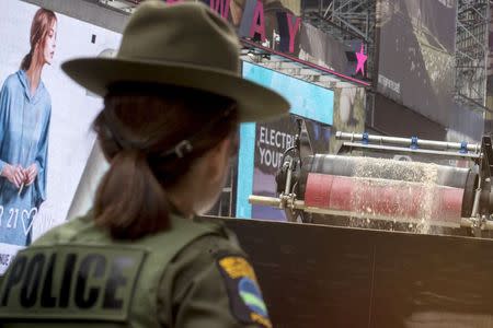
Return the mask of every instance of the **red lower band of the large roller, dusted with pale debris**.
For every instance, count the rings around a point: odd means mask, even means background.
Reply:
[[[358,215],[459,224],[463,189],[310,173],[305,206]]]

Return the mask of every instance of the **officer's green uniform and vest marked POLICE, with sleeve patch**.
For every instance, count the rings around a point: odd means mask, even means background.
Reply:
[[[91,216],[19,253],[0,286],[0,327],[272,327],[255,273],[219,223],[114,241]]]

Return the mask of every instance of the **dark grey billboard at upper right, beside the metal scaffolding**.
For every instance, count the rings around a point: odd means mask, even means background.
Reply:
[[[379,0],[377,90],[448,126],[455,78],[454,0]]]

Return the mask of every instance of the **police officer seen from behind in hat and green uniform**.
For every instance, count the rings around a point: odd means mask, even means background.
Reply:
[[[234,236],[194,220],[218,198],[238,125],[288,110],[240,77],[232,28],[206,5],[146,1],[116,58],[62,69],[104,96],[110,162],[93,209],[21,251],[0,286],[2,327],[272,327]]]

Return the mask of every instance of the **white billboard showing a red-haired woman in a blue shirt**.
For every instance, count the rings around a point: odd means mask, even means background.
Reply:
[[[117,48],[121,35],[18,0],[0,13],[0,274],[15,253],[62,223],[102,101],[60,69]]]

